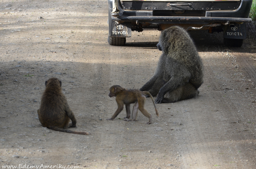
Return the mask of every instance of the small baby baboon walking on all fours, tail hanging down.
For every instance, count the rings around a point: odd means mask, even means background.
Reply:
[[[117,117],[117,115],[123,110],[123,104],[125,104],[126,117],[124,120],[136,121],[137,113],[138,113],[138,109],[139,109],[139,111],[141,111],[144,116],[149,118],[149,122],[147,122],[146,124],[151,124],[151,119],[152,119],[151,114],[144,109],[144,104],[146,101],[145,95],[149,95],[151,97],[154,107],[155,107],[154,99],[153,99],[152,95],[147,91],[141,92],[138,89],[127,90],[126,88],[122,88],[119,85],[114,85],[114,86],[110,87],[109,88],[109,96],[111,98],[115,97],[115,100],[117,101],[118,108],[117,108],[117,111],[115,111],[114,115],[107,120],[114,120]],[[133,112],[131,113],[132,119],[129,119],[131,103],[135,103],[135,104],[133,106]],[[156,107],[155,107],[155,112],[158,117],[158,111],[157,111]]]

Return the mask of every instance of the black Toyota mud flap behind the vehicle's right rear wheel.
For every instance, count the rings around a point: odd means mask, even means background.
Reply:
[[[228,39],[246,39],[246,23],[231,23],[225,26],[223,37]]]

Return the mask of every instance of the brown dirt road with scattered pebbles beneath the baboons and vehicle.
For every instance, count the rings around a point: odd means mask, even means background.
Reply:
[[[191,32],[205,66],[200,95],[157,104],[159,117],[147,98],[150,125],[140,112],[123,121],[125,110],[108,121],[117,109],[109,87],[142,87],[161,51],[157,29],[110,46],[107,10],[106,0],[0,0],[0,168],[256,169],[255,34],[227,48],[222,33]],[[72,130],[91,135],[42,127],[50,77],[62,81]]]

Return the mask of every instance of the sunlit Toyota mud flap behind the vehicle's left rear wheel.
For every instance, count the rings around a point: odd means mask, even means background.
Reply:
[[[131,37],[131,23],[123,22],[118,24],[112,21],[109,24],[109,37]]]

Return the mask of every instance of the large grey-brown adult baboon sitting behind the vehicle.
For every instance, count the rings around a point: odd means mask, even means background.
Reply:
[[[157,47],[162,51],[157,70],[139,90],[157,95],[155,103],[197,96],[203,83],[203,64],[189,34],[181,27],[169,27],[161,33]]]

